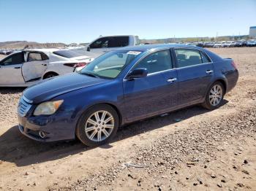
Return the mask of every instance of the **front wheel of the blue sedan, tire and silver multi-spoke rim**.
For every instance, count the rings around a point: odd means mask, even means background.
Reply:
[[[113,139],[118,130],[118,114],[112,106],[91,106],[78,120],[76,136],[85,145],[97,147]]]

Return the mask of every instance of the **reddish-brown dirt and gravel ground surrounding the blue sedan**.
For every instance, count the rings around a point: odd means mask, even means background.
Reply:
[[[256,190],[256,47],[211,51],[240,74],[219,109],[137,122],[97,148],[20,135],[23,89],[0,88],[0,190]]]

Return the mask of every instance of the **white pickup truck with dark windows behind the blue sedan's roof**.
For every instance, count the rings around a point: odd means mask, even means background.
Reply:
[[[86,46],[86,51],[92,52],[95,55],[102,55],[110,50],[116,50],[118,47],[139,44],[139,37],[135,35],[100,36]]]

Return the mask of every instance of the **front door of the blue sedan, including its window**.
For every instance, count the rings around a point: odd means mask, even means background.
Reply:
[[[178,104],[177,73],[172,69],[170,50],[151,53],[133,67],[140,68],[148,70],[147,77],[124,79],[125,117],[128,121],[170,111]]]

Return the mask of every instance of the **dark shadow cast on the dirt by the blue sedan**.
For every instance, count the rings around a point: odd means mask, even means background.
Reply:
[[[224,100],[222,105],[227,104]],[[138,136],[151,130],[171,125],[180,120],[187,120],[190,117],[209,112],[201,106],[191,106],[167,115],[152,117],[147,120],[135,122],[119,128],[116,137],[110,144],[102,145],[101,148],[109,149],[111,143],[123,139],[129,139],[132,136]],[[0,136],[0,160],[15,163],[18,166],[26,166],[35,163],[42,163],[50,160],[57,160],[68,155],[75,155],[79,152],[86,152],[91,147],[80,144],[80,141],[59,141],[55,143],[39,143],[21,135],[18,126],[13,126]]]

